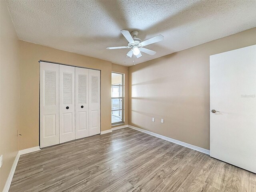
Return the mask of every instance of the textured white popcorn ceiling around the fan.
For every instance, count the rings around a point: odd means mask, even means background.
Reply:
[[[130,66],[120,33],[138,30],[146,40],[158,34],[162,42],[146,46],[136,64],[216,40],[256,26],[256,0],[15,0],[7,1],[20,40]]]

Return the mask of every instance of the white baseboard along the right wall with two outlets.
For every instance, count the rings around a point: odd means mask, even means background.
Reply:
[[[190,148],[190,149],[193,149],[193,150],[196,150],[196,151],[199,151],[199,152],[210,155],[210,150],[207,150],[207,149],[204,149],[204,148],[201,148],[201,147],[198,147],[198,146],[194,146],[194,145],[191,145],[191,144],[179,141],[179,140],[175,140],[175,139],[172,139],[170,137],[166,137],[166,136],[163,136],[163,135],[160,135],[160,134],[157,134],[157,133],[153,133],[153,132],[150,132],[150,131],[147,131],[147,130],[144,130],[144,129],[140,129],[138,127],[134,127],[134,126],[131,126],[131,125],[128,125],[128,127],[132,128],[132,129],[135,129],[135,130],[138,130],[140,132],[144,132],[146,134],[164,139],[166,141],[170,141],[170,142],[176,143],[178,145],[181,145],[181,146],[184,146],[184,147],[187,147],[187,148]]]

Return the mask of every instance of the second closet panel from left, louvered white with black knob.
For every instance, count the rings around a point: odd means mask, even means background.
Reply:
[[[75,138],[75,67],[60,65],[60,143]]]

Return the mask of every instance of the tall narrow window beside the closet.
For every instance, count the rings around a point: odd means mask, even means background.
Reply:
[[[124,74],[111,75],[111,123],[124,123]]]

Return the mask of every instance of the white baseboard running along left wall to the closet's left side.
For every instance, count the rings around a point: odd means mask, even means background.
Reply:
[[[11,168],[10,174],[9,174],[7,180],[6,180],[5,185],[4,185],[4,190],[3,190],[3,192],[8,192],[9,189],[10,189],[11,182],[12,182],[12,178],[13,178],[13,176],[14,176],[14,172],[15,172],[15,170],[16,170],[16,166],[17,166],[17,164],[18,164],[20,155],[27,154],[27,153],[31,153],[31,152],[38,151],[38,150],[40,150],[39,146],[18,151],[18,153],[17,153],[17,155],[16,155],[16,158],[15,158],[13,164],[12,164],[12,168]]]

